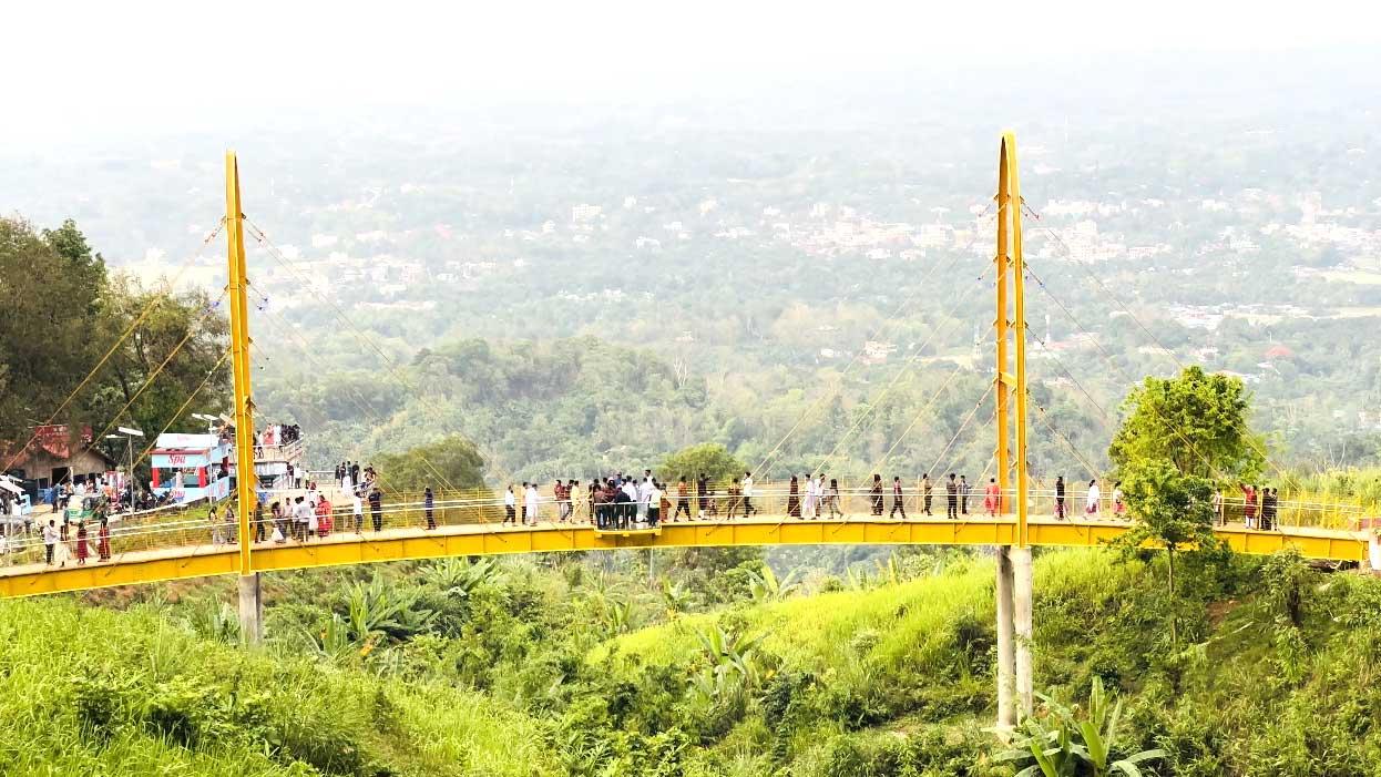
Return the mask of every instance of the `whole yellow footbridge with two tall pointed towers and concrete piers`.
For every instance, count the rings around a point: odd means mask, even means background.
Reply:
[[[1074,508],[1069,512],[1084,515],[1077,519],[1056,518],[1050,484],[1037,487],[1027,472],[1030,424],[1025,282],[1030,277],[1047,294],[1048,288],[1030,272],[1022,255],[1022,214],[1026,207],[1021,197],[1016,144],[1011,134],[1003,135],[998,150],[997,250],[990,271],[994,273],[996,291],[993,333],[997,359],[996,377],[989,389],[996,406],[993,420],[997,433],[992,464],[996,493],[992,500],[985,500],[983,494],[969,497],[965,500],[968,509],[953,518],[928,513],[923,487],[916,482],[907,483],[900,497],[894,495],[891,483],[887,484],[881,498],[887,506],[894,508],[888,515],[881,515],[877,491],[859,489],[858,484],[844,484],[838,500],[842,515],[827,518],[811,515],[809,509],[802,512],[800,502],[793,504],[798,497],[784,484],[762,483],[753,495],[757,511],[751,518],[728,518],[731,504],[724,504],[724,500],[732,501],[736,497],[725,495],[721,486],[708,494],[707,505],[697,505],[708,506],[710,509],[704,511],[708,515],[700,516],[702,509],[697,509],[696,518],[684,522],[663,520],[655,527],[639,526],[624,530],[592,526],[588,511],[579,509],[583,494],[576,494],[577,509],[570,520],[554,520],[555,506],[548,498],[539,505],[537,515],[528,516],[530,520],[505,523],[503,500],[489,493],[442,491],[434,498],[429,509],[421,502],[420,495],[389,494],[387,506],[377,509],[373,505],[365,506],[365,515],[356,515],[352,505],[327,489],[326,495],[334,497],[331,498],[333,531],[307,541],[273,541],[268,522],[255,524],[251,520],[255,509],[262,505],[257,504],[258,489],[254,476],[254,403],[247,315],[251,284],[247,280],[244,258],[247,228],[251,237],[261,243],[267,237],[257,226],[246,224],[240,203],[239,167],[233,152],[228,152],[225,157],[225,203],[226,213],[221,226],[226,237],[229,269],[228,357],[233,367],[235,455],[239,479],[238,520],[229,533],[233,540],[213,542],[213,533],[221,534],[222,527],[213,529],[204,519],[174,518],[149,522],[133,519],[120,523],[109,538],[109,552],[102,551],[98,553],[99,558],[83,559],[86,563],[81,564],[69,560],[61,567],[52,567],[37,560],[40,556],[36,541],[30,541],[28,548],[22,544],[11,545],[11,555],[17,555],[21,563],[0,567],[0,598],[233,574],[239,576],[240,581],[242,635],[253,645],[261,638],[260,573],[264,571],[443,556],[620,548],[989,545],[997,548],[998,725],[1010,726],[1016,719],[1018,707],[1029,711],[1032,705],[1032,548],[1099,545],[1117,538],[1131,526],[1116,505],[1084,512],[1080,509],[1083,498],[1077,491],[1069,494],[1070,505]],[[1055,302],[1059,305],[1058,299]],[[1063,309],[1073,317],[1068,308]],[[899,309],[900,312],[905,311]],[[1135,316],[1131,319],[1135,322]],[[1142,328],[1150,334],[1145,326]],[[387,355],[383,352],[380,355],[387,360]],[[1131,382],[1131,377],[1126,377]],[[986,395],[979,404],[985,400]],[[178,415],[185,410],[184,406]],[[1050,428],[1044,410],[1037,406],[1037,411]],[[960,428],[960,432],[963,431],[964,426]],[[1063,439],[1058,432],[1056,436]],[[1068,439],[1065,442],[1068,443]],[[772,453],[779,447],[780,443]],[[1087,461],[1077,450],[1073,454],[1080,461]],[[684,473],[663,475],[670,479]],[[932,475],[939,473],[932,472]],[[979,482],[975,486],[983,489],[986,484]],[[945,484],[936,482],[935,491],[935,513],[947,512]],[[697,494],[696,502],[699,501]],[[985,501],[987,504],[983,504]],[[898,502],[905,509],[896,511]],[[1370,529],[1370,520],[1360,506],[1340,508],[1286,501],[1276,505],[1276,520],[1269,530],[1264,530],[1257,527],[1259,523],[1248,527],[1247,523],[1236,520],[1233,516],[1242,516],[1243,512],[1233,506],[1232,498],[1224,502],[1228,506],[1222,511],[1222,520],[1215,531],[1232,549],[1242,553],[1273,553],[1294,548],[1311,559],[1362,562],[1369,559],[1370,545],[1374,544],[1371,533],[1364,530]],[[544,512],[547,515],[543,515]],[[894,518],[898,512],[900,518]],[[221,540],[228,538],[221,537]]]

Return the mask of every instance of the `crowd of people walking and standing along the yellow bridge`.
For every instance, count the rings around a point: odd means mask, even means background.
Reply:
[[[258,504],[250,522],[251,542],[311,542],[336,531],[363,534],[385,529],[384,498],[378,473],[371,466],[342,461],[334,469],[336,484],[331,495],[313,480],[301,483],[302,493],[283,494],[267,504]],[[938,482],[936,482],[938,480]],[[1056,478],[1052,487],[1037,487],[1033,495],[1050,498],[1055,520],[1068,520],[1079,511],[1085,520],[1127,520],[1128,508],[1120,482],[1113,482],[1105,493],[1098,479],[1074,484],[1074,491]],[[1279,489],[1242,483],[1240,497],[1226,495],[1222,489],[1213,494],[1213,511],[1218,524],[1240,520],[1251,530],[1277,530],[1280,526]],[[275,493],[275,497],[278,494]],[[331,498],[337,500],[334,504]],[[706,473],[695,478],[677,476],[670,483],[650,469],[641,475],[619,472],[613,476],[581,483],[576,479],[557,479],[543,487],[534,482],[508,486],[503,494],[503,526],[537,526],[539,523],[592,524],[597,530],[627,531],[656,529],[667,522],[735,520],[755,515],[776,515],[797,520],[842,520],[849,508],[870,518],[900,519],[932,518],[940,509],[945,518],[958,520],[979,511],[986,519],[1011,515],[1015,495],[1003,490],[996,478],[989,478],[982,493],[975,494],[965,475],[949,473],[931,479],[923,475],[907,482],[894,475],[885,482],[880,473],[865,480],[862,487],[841,484],[824,472],[800,476],[786,482],[760,486],[751,472],[713,482]],[[464,522],[483,522],[485,511],[493,502],[478,500],[446,500],[438,502],[427,487],[420,501],[392,504],[388,509],[392,526],[421,526],[438,529],[445,520],[438,515],[463,511]],[[1239,513],[1240,511],[1240,513]],[[366,522],[366,516],[369,520]],[[1240,518],[1239,518],[1240,516]],[[454,520],[454,515],[452,515]],[[240,541],[235,500],[210,505],[206,526],[211,545],[232,545]],[[11,537],[8,527],[0,531],[0,563],[8,560]],[[110,560],[112,530],[105,511],[95,511],[90,519],[48,519],[40,526],[44,563],[51,567],[81,566],[93,559]]]

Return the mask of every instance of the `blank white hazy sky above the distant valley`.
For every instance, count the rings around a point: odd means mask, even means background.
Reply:
[[[207,105],[226,91],[297,105],[510,90],[599,95],[743,72],[1381,47],[1378,22],[1381,10],[1364,0],[44,0],[6,8],[0,66],[11,105],[90,116]]]

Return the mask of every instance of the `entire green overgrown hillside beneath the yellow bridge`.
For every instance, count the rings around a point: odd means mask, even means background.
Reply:
[[[254,654],[197,589],[0,603],[0,773],[1015,771],[985,731],[986,556],[801,588],[732,553],[649,584],[638,559],[282,576]],[[1381,584],[1288,556],[1184,566],[1172,603],[1159,556],[1040,555],[1037,686],[1080,700],[1102,678],[1119,749],[1167,751],[1145,774],[1381,773]]]

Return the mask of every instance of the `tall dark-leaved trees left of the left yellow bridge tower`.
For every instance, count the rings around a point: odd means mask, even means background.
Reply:
[[[224,406],[226,320],[209,295],[108,277],[70,219],[35,233],[0,218],[0,440],[22,440],[55,413],[95,431],[163,429],[203,382],[197,407]]]

